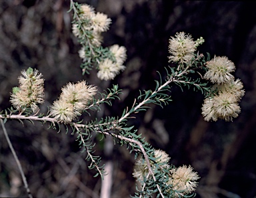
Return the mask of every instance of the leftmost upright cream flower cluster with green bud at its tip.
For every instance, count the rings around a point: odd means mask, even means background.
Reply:
[[[44,102],[43,97],[44,79],[41,78],[43,75],[38,70],[28,68],[27,70],[21,71],[23,76],[19,76],[19,87],[14,87],[11,93],[11,103],[13,106],[23,112],[26,108],[30,108],[33,112],[39,110],[37,104]]]

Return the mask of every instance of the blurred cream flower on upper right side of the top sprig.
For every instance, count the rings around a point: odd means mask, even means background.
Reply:
[[[105,32],[109,29],[111,19],[107,18],[107,15],[103,13],[96,13],[91,17],[92,29],[95,32]]]

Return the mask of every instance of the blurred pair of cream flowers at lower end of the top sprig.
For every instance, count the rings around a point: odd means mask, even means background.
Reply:
[[[127,58],[125,47],[113,45],[109,47],[109,50],[115,58],[115,61],[106,58],[99,62],[99,72],[97,72],[97,76],[101,80],[113,80],[120,71],[125,70],[125,66],[123,65],[123,62],[125,62]]]

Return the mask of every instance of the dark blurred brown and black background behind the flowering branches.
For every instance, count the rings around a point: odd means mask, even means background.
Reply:
[[[111,82],[100,82],[95,71],[82,76],[80,45],[71,34],[69,1],[0,0],[0,110],[9,108],[9,93],[18,85],[20,71],[37,68],[45,78],[47,112],[67,82],[85,79],[99,90],[119,84],[120,101],[103,107],[101,116],[121,116],[133,104],[139,90],[155,87],[157,70],[165,75],[168,39],[184,31],[194,39],[203,37],[199,51],[211,57],[227,56],[244,84],[241,114],[233,122],[205,122],[201,116],[203,96],[173,86],[165,108],[151,105],[147,112],[129,121],[156,149],[163,149],[176,166],[192,165],[201,179],[197,197],[256,197],[255,68],[256,3],[253,1],[91,0],[96,11],[112,19],[103,46],[127,48],[126,70]],[[88,119],[88,116],[87,118]],[[47,126],[8,121],[7,132],[21,160],[31,193],[35,197],[99,197],[101,178],[93,178],[85,153],[71,132],[57,133]],[[19,170],[0,131],[0,197],[27,196]],[[104,154],[105,142],[96,154]],[[132,177],[134,156],[115,145],[112,153],[111,197],[129,197],[135,191]]]

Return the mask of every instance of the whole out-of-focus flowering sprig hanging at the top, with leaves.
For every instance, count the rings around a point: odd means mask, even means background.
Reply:
[[[83,62],[97,64],[97,77],[101,80],[113,80],[119,72],[125,69],[123,63],[127,55],[125,47],[113,45],[109,49],[102,49],[101,33],[109,29],[111,19],[103,13],[95,13],[93,7],[84,4],[78,7],[77,22],[73,24],[73,34],[81,39],[83,45],[79,56]],[[87,50],[90,49],[89,52]]]

